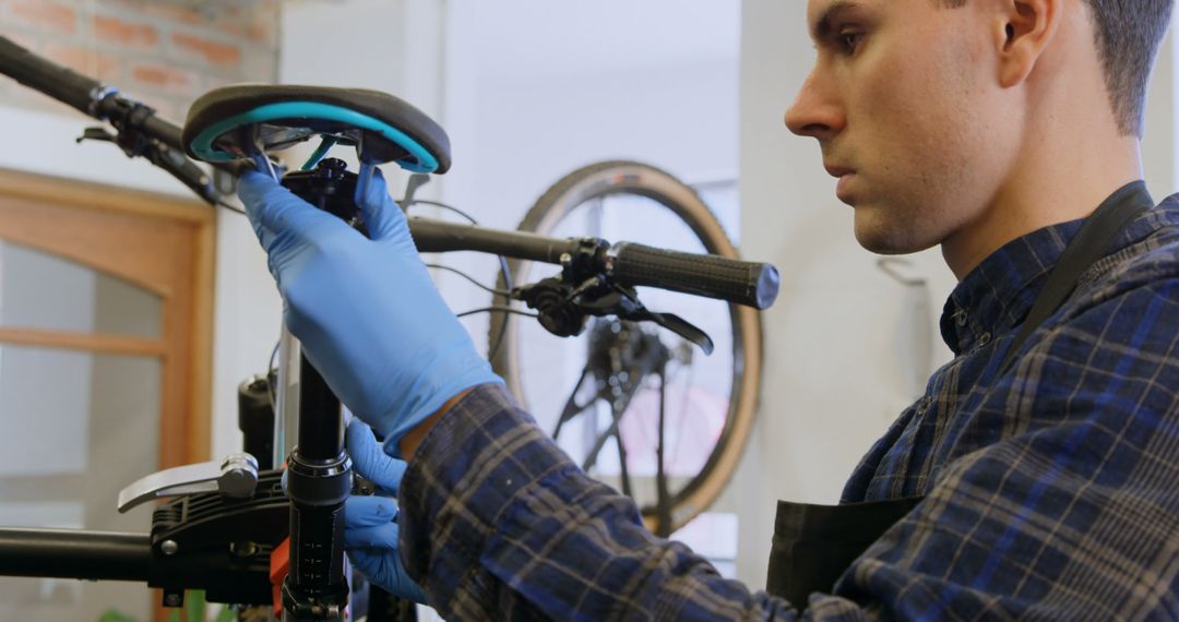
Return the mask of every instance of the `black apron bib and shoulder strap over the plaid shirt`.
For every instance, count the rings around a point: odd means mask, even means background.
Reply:
[[[1100,259],[1129,223],[1154,206],[1146,184],[1134,181],[1113,193],[1093,212],[1061,253],[1043,290],[1007,351],[999,375],[1007,372],[1028,336],[1076,289],[1081,276]],[[778,502],[773,547],[765,589],[804,609],[814,593],[830,594],[839,576],[923,497],[845,505]]]

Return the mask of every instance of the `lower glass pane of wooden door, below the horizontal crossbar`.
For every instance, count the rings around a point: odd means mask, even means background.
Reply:
[[[152,357],[0,346],[0,525],[146,534],[119,490],[158,470],[163,366]],[[147,621],[145,585],[0,577],[0,620]]]

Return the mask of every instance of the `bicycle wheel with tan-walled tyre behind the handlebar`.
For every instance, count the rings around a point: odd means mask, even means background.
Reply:
[[[693,188],[634,161],[569,173],[519,229],[738,258]],[[515,284],[555,272],[521,260],[508,270]],[[640,298],[704,329],[713,353],[646,324],[595,318],[581,336],[558,339],[514,315],[492,318],[488,351],[558,444],[591,476],[634,497],[647,527],[666,536],[712,504],[737,466],[757,405],[762,324],[756,310],[719,300],[654,289],[640,289]]]

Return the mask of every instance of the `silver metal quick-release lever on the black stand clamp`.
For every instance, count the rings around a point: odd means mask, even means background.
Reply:
[[[119,491],[119,512],[152,499],[195,492],[248,498],[253,496],[257,485],[258,461],[249,454],[232,454],[220,462],[174,466],[137,481]]]

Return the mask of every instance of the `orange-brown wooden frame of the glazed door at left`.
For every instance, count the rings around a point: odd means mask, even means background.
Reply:
[[[0,343],[159,358],[159,468],[209,459],[217,211],[169,194],[0,168],[0,239],[162,298],[159,338],[0,326]]]

